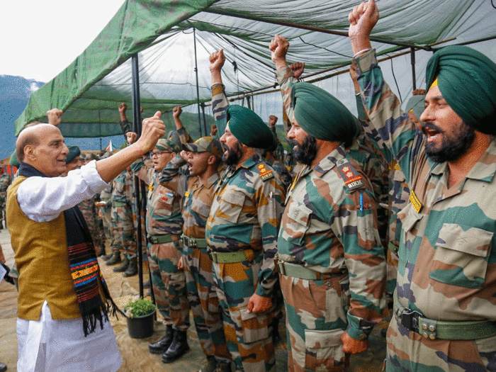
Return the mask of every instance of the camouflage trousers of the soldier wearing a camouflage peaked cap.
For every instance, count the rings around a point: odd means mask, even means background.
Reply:
[[[184,247],[188,300],[203,354],[231,361],[225,341],[222,308],[213,285],[212,260],[206,248]]]

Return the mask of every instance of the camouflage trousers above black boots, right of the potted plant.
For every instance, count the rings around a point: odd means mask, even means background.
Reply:
[[[177,269],[181,258],[179,235],[172,235],[173,242],[148,244],[147,255],[152,289],[157,309],[166,325],[186,331],[189,327],[189,303],[184,271]]]

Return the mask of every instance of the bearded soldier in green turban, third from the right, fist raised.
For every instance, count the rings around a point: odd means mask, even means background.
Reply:
[[[227,111],[218,106],[222,99],[217,95],[223,95],[220,53],[210,55],[213,112],[227,118],[220,142],[227,148],[223,160],[229,167],[215,191],[205,238],[236,371],[274,371],[274,255],[286,191],[261,158],[259,149],[274,143],[267,125],[242,106]]]

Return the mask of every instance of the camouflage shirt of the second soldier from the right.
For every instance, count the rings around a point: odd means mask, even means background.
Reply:
[[[385,258],[371,186],[349,164],[340,146],[296,176],[286,198],[278,256],[322,274],[349,271],[348,333],[363,339],[381,320]]]

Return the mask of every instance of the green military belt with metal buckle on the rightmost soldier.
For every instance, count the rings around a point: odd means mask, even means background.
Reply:
[[[394,293],[395,317],[405,328],[428,339],[487,339],[496,336],[496,322],[473,320],[466,322],[433,320],[421,312],[400,305],[398,294]]]

